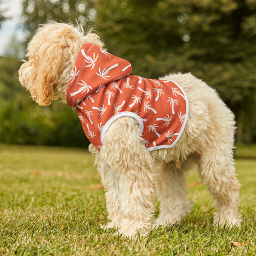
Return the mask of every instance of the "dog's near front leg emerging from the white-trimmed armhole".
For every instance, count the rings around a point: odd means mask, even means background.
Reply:
[[[115,203],[118,204],[118,220],[121,218],[119,233],[129,237],[135,236],[137,231],[147,234],[154,210],[153,160],[141,143],[137,122],[132,118],[115,121],[106,132],[100,155],[119,181],[111,187],[115,192],[106,194],[112,197],[106,201],[114,202],[118,196]]]

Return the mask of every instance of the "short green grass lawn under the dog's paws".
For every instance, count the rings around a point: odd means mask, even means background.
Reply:
[[[212,198],[192,174],[191,214],[131,241],[100,228],[107,222],[104,191],[86,150],[0,145],[0,255],[256,255],[256,154],[250,154],[236,159],[240,229],[213,225]]]

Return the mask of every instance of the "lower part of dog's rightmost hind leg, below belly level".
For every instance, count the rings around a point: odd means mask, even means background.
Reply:
[[[241,222],[238,212],[240,185],[234,172],[233,158],[226,151],[204,152],[199,160],[199,174],[215,200],[217,213],[214,222],[220,226],[233,226]]]

